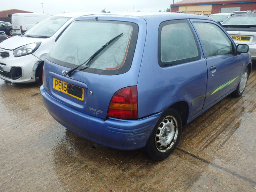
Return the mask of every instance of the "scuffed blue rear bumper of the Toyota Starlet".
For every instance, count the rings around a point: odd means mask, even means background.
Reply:
[[[140,120],[107,120],[84,114],[70,108],[50,96],[41,86],[44,105],[52,117],[64,127],[97,142],[121,150],[142,148],[156,124],[161,112]]]

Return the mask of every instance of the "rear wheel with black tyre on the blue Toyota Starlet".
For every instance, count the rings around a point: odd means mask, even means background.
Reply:
[[[177,110],[166,110],[156,123],[144,152],[156,161],[164,160],[176,148],[182,131],[182,120]]]

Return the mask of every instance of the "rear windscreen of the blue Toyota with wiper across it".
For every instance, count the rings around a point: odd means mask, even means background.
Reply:
[[[90,63],[86,62],[78,70],[107,75],[124,73],[130,69],[138,36],[138,26],[131,22],[75,21],[57,40],[48,60],[74,68],[118,35]]]

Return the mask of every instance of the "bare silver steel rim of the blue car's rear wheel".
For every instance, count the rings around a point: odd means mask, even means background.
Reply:
[[[155,146],[159,152],[166,152],[178,138],[178,122],[173,116],[166,116],[158,125],[155,135]]]

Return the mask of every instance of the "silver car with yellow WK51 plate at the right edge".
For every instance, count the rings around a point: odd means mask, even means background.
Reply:
[[[236,44],[248,44],[256,60],[256,13],[235,14],[222,23]]]

